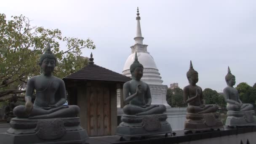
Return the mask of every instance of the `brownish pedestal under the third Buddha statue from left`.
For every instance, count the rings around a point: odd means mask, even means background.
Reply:
[[[184,130],[208,131],[223,128],[219,113],[193,114],[187,113]]]

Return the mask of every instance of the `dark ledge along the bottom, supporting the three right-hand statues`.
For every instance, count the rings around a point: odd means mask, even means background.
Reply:
[[[96,137],[96,138],[90,138],[87,142],[89,142],[90,144],[96,144],[93,141],[95,139],[97,139],[99,141],[108,141],[109,143],[106,144],[187,144],[188,141],[189,144],[194,144],[194,142],[203,142],[202,144],[208,144],[205,141],[208,141],[207,139],[209,139],[209,144],[212,144],[211,141],[213,139],[216,140],[217,139],[221,139],[223,137],[223,139],[228,140],[228,137],[236,137],[237,141],[239,139],[239,144],[241,139],[245,139],[245,143],[246,143],[246,139],[245,138],[245,133],[246,136],[250,135],[249,133],[251,133],[251,135],[255,135],[256,133],[256,126],[250,126],[250,127],[243,127],[243,128],[228,128],[225,127],[225,130],[220,130],[220,131],[208,131],[208,132],[204,132],[204,133],[191,133],[191,134],[187,134],[185,135],[184,132],[185,131],[173,131],[176,133],[176,136],[169,136],[168,137],[164,137],[164,135],[156,135],[156,136],[150,136],[147,139],[144,140],[133,140],[133,141],[119,141],[120,136],[114,136],[112,138],[110,137]],[[107,140],[109,139],[109,140]],[[111,139],[111,140],[110,140]],[[223,140],[222,139],[222,140]],[[193,142],[194,141],[194,142]],[[244,141],[244,140],[243,140]],[[256,138],[253,138],[253,141],[256,141]],[[253,141],[250,141],[251,143]],[[218,144],[226,144],[225,143],[218,143]],[[104,143],[105,144],[105,143]],[[232,143],[233,144],[233,143]],[[252,143],[253,144],[253,143]]]

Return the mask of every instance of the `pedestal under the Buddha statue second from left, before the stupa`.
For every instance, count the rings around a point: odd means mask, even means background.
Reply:
[[[167,116],[160,115],[122,115],[122,123],[117,126],[116,135],[124,137],[140,137],[171,133],[171,125]]]

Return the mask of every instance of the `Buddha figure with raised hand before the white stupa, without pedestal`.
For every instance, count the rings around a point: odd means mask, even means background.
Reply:
[[[127,115],[152,115],[165,112],[165,105],[151,104],[152,98],[149,85],[141,81],[143,65],[138,61],[137,52],[130,71],[132,80],[123,85],[124,102],[129,104],[123,107],[123,112]]]

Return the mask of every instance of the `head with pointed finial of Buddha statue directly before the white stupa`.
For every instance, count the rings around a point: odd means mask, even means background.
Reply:
[[[137,52],[135,53],[135,58],[133,61],[133,64],[130,66],[130,71],[131,71],[131,76],[135,80],[140,80],[141,77],[143,76],[143,65],[139,63],[138,57],[137,57]]]

